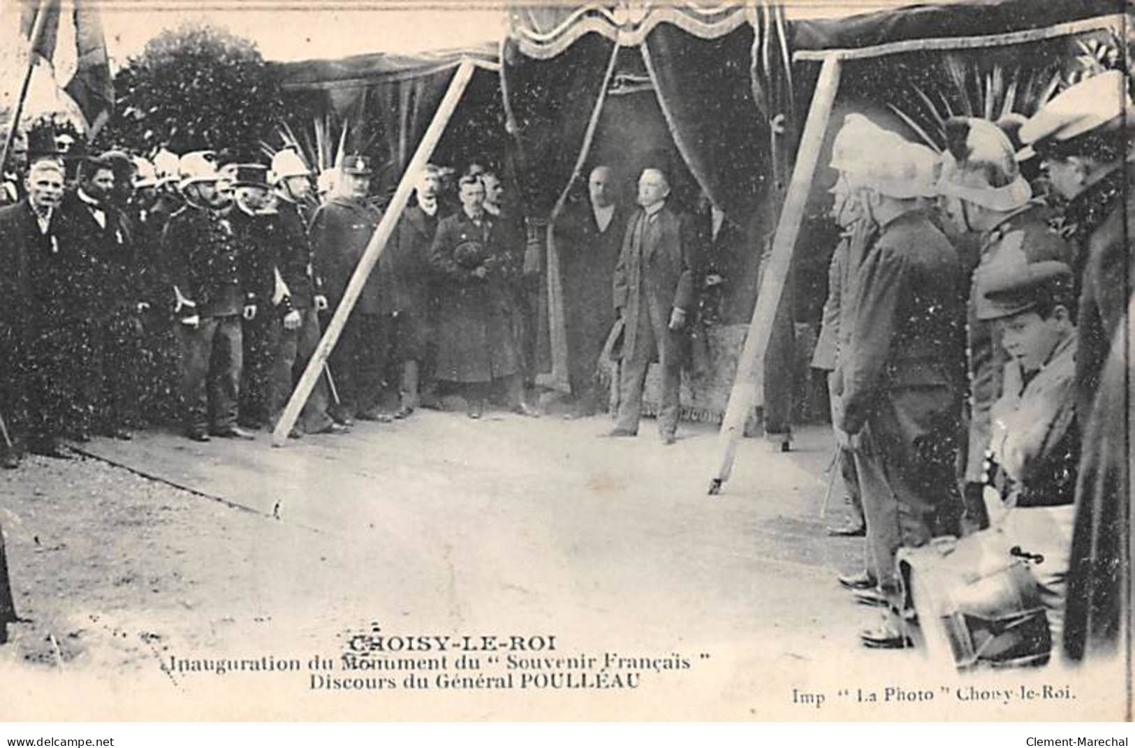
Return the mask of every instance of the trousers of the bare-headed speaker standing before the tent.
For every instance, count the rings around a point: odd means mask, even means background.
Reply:
[[[642,414],[642,387],[650,363],[656,359],[662,368],[662,403],[658,407],[658,432],[673,436],[678,430],[679,388],[682,384],[682,334],[667,327],[669,319],[651,320],[650,304],[646,299],[639,304],[638,330],[634,350],[623,356],[620,367],[619,418],[616,427],[638,432]],[[666,339],[659,345],[655,328],[665,330]]]

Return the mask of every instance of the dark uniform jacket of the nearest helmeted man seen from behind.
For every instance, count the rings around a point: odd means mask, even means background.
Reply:
[[[876,407],[898,402],[899,390],[925,401],[903,400],[922,410],[918,418],[960,409],[953,402],[964,360],[960,283],[957,252],[924,213],[907,212],[880,228],[857,278],[851,344],[840,353],[842,430],[857,434]]]

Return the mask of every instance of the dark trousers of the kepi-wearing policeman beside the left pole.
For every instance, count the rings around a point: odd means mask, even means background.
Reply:
[[[353,312],[329,360],[342,418],[378,406],[382,396],[382,316]]]

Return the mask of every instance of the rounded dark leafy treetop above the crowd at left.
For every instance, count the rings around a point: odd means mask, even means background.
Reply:
[[[284,112],[255,45],[200,23],[150,40],[115,76],[115,92],[116,114],[98,144],[143,153],[163,145],[255,153]]]

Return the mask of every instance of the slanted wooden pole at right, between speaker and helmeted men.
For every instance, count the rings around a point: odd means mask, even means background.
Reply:
[[[823,67],[819,69],[816,92],[813,94],[808,119],[805,121],[804,134],[800,137],[800,148],[797,150],[792,180],[789,183],[784,207],[781,209],[776,234],[773,237],[772,257],[768,260],[764,278],[760,280],[757,304],[753,310],[753,319],[749,321],[749,331],[745,338],[741,358],[738,360],[733,389],[729,394],[725,418],[721,425],[718,436],[721,462],[716,476],[709,484],[711,496],[721,493],[722,485],[729,480],[738,444],[745,434],[745,421],[749,411],[754,404],[763,404],[765,352],[768,350],[773,320],[776,317],[776,309],[780,306],[784,283],[788,280],[792,251],[800,233],[800,222],[804,220],[804,210],[808,203],[808,193],[812,190],[816,162],[819,160],[819,146],[824,141],[824,133],[827,129],[827,120],[831,117],[832,104],[835,102],[835,92],[839,86],[840,59],[831,56],[824,60]]]

